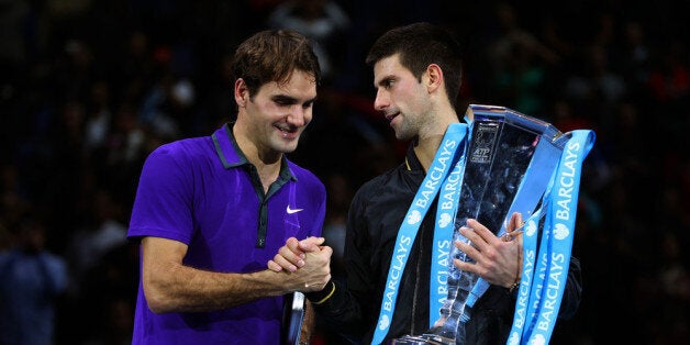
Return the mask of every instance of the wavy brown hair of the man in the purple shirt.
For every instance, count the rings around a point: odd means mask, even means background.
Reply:
[[[321,81],[321,67],[312,48],[312,43],[304,35],[292,30],[266,30],[244,41],[233,56],[233,80],[244,79],[254,97],[267,82],[287,82],[294,69]]]

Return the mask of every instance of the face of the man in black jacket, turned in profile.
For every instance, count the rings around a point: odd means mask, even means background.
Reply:
[[[374,65],[374,108],[385,114],[396,137],[408,141],[418,136],[429,118],[430,98],[426,88],[400,64],[398,54]]]

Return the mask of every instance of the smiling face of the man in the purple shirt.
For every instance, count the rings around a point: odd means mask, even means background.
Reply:
[[[312,76],[296,70],[288,82],[263,85],[247,98],[246,123],[258,154],[290,153],[312,120],[316,84]]]

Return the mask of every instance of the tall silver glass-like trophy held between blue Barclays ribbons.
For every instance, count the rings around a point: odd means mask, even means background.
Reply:
[[[465,171],[459,196],[459,205],[455,219],[454,241],[467,241],[458,229],[474,218],[489,230],[498,232],[513,211],[522,212],[526,219],[535,210],[539,198],[523,202],[526,209],[514,209],[515,198],[525,175],[530,169],[539,169],[546,180],[536,185],[545,190],[558,159],[554,162],[532,163],[537,143],[546,149],[563,152],[567,140],[555,126],[516,111],[494,105],[470,104],[468,116],[474,119],[470,124],[468,147],[465,152]],[[560,155],[556,155],[559,157]],[[532,164],[532,166],[531,166]],[[538,188],[537,188],[538,189]],[[534,188],[528,192],[534,193]],[[524,198],[523,198],[524,199]],[[532,197],[535,199],[535,197]],[[511,209],[512,208],[512,209]],[[509,213],[510,212],[510,213]],[[471,261],[465,253],[453,246],[453,258]],[[468,298],[479,299],[477,290],[478,276],[461,271],[453,264],[448,267],[448,296],[439,311],[439,319],[434,326],[422,335],[408,335],[394,340],[400,344],[465,344],[465,325],[471,318]],[[485,281],[486,283],[486,281]]]

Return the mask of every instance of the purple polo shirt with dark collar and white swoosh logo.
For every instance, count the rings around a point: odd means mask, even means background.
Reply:
[[[283,158],[264,194],[231,126],[154,151],[142,170],[129,238],[189,246],[185,265],[212,271],[266,269],[290,236],[320,236],[325,188]],[[141,265],[141,264],[140,264]],[[140,282],[133,344],[279,344],[282,297],[203,313],[153,313]]]

